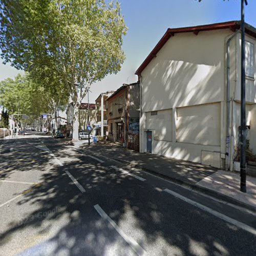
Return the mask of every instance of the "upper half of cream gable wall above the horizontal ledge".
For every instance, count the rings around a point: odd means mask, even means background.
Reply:
[[[224,100],[225,41],[230,30],[178,33],[142,71],[142,111]]]

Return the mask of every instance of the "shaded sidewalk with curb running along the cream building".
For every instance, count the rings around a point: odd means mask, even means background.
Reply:
[[[247,176],[247,193],[242,193],[239,173],[158,155],[138,153],[114,144],[92,143],[90,147],[88,145],[82,147],[256,212],[256,178]]]

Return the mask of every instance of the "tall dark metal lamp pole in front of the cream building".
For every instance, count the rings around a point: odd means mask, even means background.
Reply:
[[[246,193],[246,109],[245,109],[245,24],[244,1],[241,0],[241,126],[240,126],[240,190]],[[245,1],[246,2],[246,1]],[[247,4],[247,2],[246,2]]]

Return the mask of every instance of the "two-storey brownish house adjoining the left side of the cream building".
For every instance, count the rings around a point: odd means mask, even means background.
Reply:
[[[106,102],[108,139],[139,150],[139,82],[123,84]]]

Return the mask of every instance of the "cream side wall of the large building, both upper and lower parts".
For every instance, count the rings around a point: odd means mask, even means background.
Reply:
[[[221,166],[226,136],[225,45],[231,34],[230,30],[175,34],[142,71],[140,152],[146,151],[145,131],[152,130],[153,154],[201,163],[203,152],[204,162],[209,157],[212,165]],[[236,39],[231,41],[231,65],[237,63],[235,46]],[[231,69],[233,80],[235,70]],[[170,121],[157,125],[148,119],[151,111],[166,110],[172,110]]]

